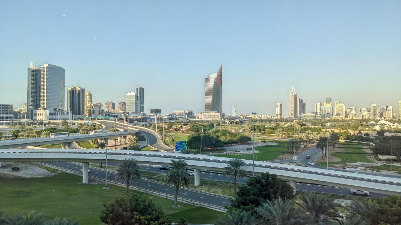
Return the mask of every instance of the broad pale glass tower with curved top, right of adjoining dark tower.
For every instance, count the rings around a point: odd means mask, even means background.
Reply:
[[[41,66],[41,108],[64,110],[65,70],[45,63]]]

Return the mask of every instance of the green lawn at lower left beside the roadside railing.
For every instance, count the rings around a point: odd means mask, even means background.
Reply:
[[[111,201],[114,195],[123,194],[125,188],[111,185],[111,189],[103,190],[103,185],[79,185],[79,181],[82,181],[82,177],[71,174],[45,178],[2,179],[0,209],[6,215],[36,210],[51,217],[78,219],[80,224],[103,224],[99,219],[99,213],[103,209],[102,203]],[[179,208],[172,208],[172,200],[136,193],[146,195],[161,205],[173,223],[181,217],[184,217],[187,223],[213,223],[223,214],[184,203],[179,203],[182,205]]]

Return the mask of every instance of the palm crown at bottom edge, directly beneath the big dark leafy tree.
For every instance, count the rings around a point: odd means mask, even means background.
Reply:
[[[255,211],[262,217],[263,224],[271,225],[304,225],[306,219],[302,216],[304,212],[294,207],[294,200],[283,201],[281,198],[273,201],[267,200]]]

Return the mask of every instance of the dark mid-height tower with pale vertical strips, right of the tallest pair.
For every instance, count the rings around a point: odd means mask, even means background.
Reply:
[[[72,86],[67,88],[67,111],[71,111],[73,119],[85,113],[85,88]]]

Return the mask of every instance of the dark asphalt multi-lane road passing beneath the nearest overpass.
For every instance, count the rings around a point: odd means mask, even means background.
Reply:
[[[81,164],[78,163],[69,163],[69,162],[46,162],[51,165],[55,165],[58,167],[63,167],[65,169],[70,169],[73,171],[80,171],[81,170]],[[112,166],[118,166],[118,163],[108,163],[108,165]],[[161,172],[165,173],[165,171],[160,170],[158,167],[155,166],[150,166],[150,165],[142,165],[140,169],[144,171],[153,171],[153,172]],[[97,177],[105,177],[105,170],[104,169],[99,169],[95,167],[90,167],[89,170],[91,171],[91,175],[97,176]],[[111,171],[108,171],[107,173],[107,178],[114,180],[114,173]],[[216,174],[216,173],[207,173],[203,172],[201,173],[201,178],[204,179],[213,179],[213,180],[219,180],[219,181],[233,181],[233,177],[226,177],[224,175]],[[247,178],[240,178],[237,179],[238,183],[246,183],[248,179]],[[160,193],[165,193],[169,195],[174,195],[174,187],[172,186],[165,186],[162,183],[158,182],[152,182],[152,181],[147,181],[144,179],[135,181],[132,185],[136,187],[141,187],[144,189],[152,190],[152,191],[157,191]],[[342,189],[338,187],[328,187],[328,186],[323,186],[323,185],[314,185],[314,184],[304,184],[304,183],[297,183],[297,190],[298,191],[313,191],[317,193],[328,193],[328,194],[334,194],[334,195],[350,195],[350,191],[348,189]],[[190,189],[181,189],[180,192],[178,193],[179,197],[185,197],[185,193],[187,193],[186,198],[190,199],[192,201],[198,201],[202,203],[206,203],[209,205],[215,205],[215,206],[224,206],[224,205],[229,205],[230,204],[230,199],[229,197],[226,196],[221,196],[221,195],[213,195],[212,193],[206,193],[198,190],[190,190]],[[350,195],[351,196],[351,195]],[[385,197],[387,195],[379,194],[379,193],[371,193],[370,197]]]

